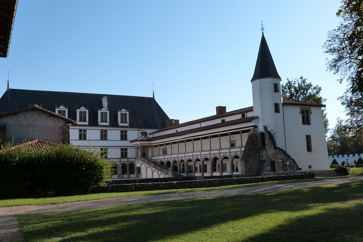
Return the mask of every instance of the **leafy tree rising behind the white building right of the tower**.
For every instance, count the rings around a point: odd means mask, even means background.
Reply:
[[[287,78],[287,82],[282,85],[282,89],[283,99],[286,100],[303,102],[303,98],[306,97],[307,101],[313,104],[322,104],[326,101],[326,99],[324,99],[320,94],[321,87],[313,86],[311,82],[307,82],[307,78],[302,76],[299,78],[293,78],[291,80]],[[329,130],[329,121],[327,119],[325,107],[323,107],[323,120],[325,134],[327,134]]]

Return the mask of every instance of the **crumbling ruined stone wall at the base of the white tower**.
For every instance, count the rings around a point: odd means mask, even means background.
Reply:
[[[301,170],[294,158],[276,146],[275,139],[266,128],[264,132],[258,132],[257,128],[250,131],[241,162],[248,175]]]

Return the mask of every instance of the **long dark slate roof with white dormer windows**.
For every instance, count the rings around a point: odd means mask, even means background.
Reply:
[[[110,125],[98,125],[98,110],[103,108],[104,96],[108,98]],[[5,91],[0,98],[0,114],[34,104],[52,112],[63,105],[68,108],[68,119],[71,120],[77,120],[77,109],[84,106],[88,109],[88,126],[120,127],[117,112],[123,108],[128,111],[129,126],[121,127],[161,129],[169,119],[152,97],[20,89]]]

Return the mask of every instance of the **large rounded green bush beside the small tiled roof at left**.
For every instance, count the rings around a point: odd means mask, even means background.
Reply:
[[[41,150],[18,146],[0,150],[0,197],[84,194],[110,181],[112,164],[95,151],[70,145]]]

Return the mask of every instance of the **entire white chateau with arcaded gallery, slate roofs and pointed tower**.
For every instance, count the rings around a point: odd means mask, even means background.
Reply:
[[[280,82],[262,33],[251,79],[253,106],[228,112],[218,106],[213,116],[179,123],[154,97],[17,90],[8,85],[0,98],[0,138],[47,140],[53,130],[52,138],[59,142],[99,149],[115,160],[115,178],[329,169],[324,105],[282,100]]]

